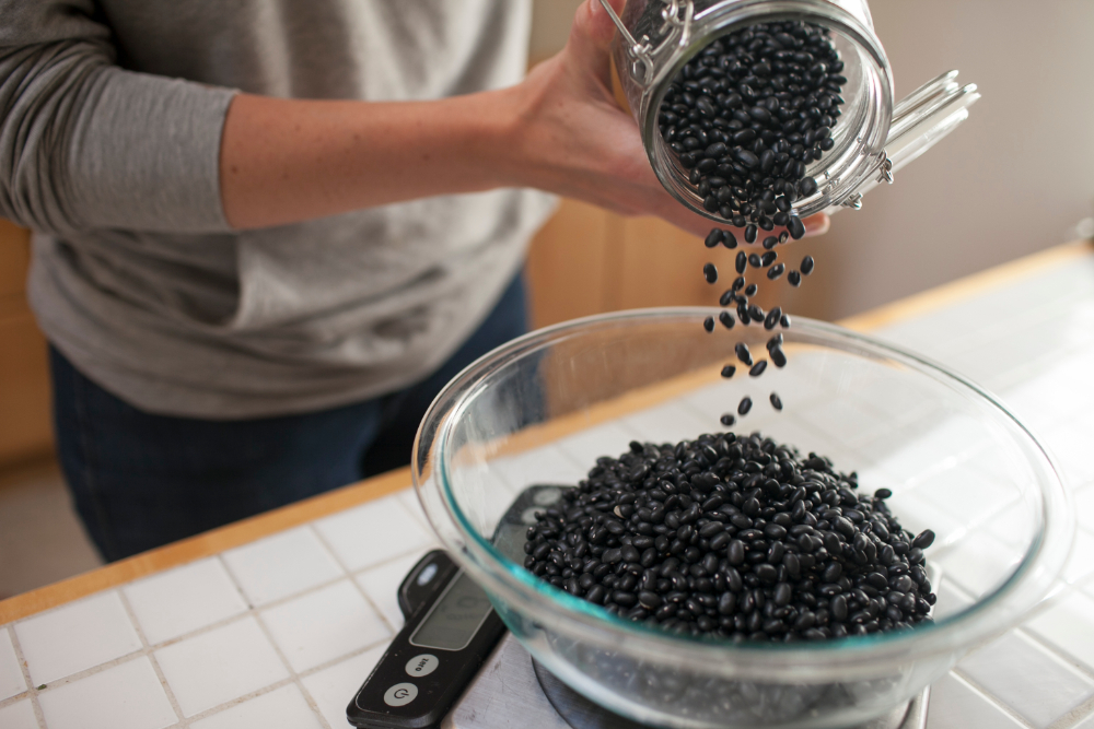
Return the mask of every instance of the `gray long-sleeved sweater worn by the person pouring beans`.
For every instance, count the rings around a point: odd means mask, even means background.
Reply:
[[[238,419],[438,367],[551,209],[528,190],[229,228],[234,90],[424,99],[516,83],[528,0],[0,0],[0,215],[49,340],[131,404]]]

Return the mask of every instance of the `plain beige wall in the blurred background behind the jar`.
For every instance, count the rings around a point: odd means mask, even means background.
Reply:
[[[538,0],[533,58],[561,46],[578,4]],[[1094,215],[1094,2],[872,0],[871,10],[897,97],[955,68],[984,98],[808,246],[817,274],[792,308],[825,318],[1062,243]]]

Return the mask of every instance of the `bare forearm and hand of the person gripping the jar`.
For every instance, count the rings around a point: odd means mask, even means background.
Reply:
[[[409,103],[238,95],[221,142],[224,214],[234,227],[261,227],[533,187],[702,235],[711,222],[665,192],[633,119],[613,97],[613,32],[600,1],[586,0],[566,48],[501,91]],[[827,216],[806,227],[823,233]]]

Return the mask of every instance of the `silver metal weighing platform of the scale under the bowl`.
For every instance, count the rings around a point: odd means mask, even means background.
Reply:
[[[929,691],[924,689],[906,706],[854,729],[926,729]],[[545,692],[550,693],[550,698]],[[482,665],[441,727],[643,729],[641,725],[596,706],[552,677],[532,660],[510,633]]]

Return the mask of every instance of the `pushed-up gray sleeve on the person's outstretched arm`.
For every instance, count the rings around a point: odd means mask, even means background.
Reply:
[[[234,92],[116,59],[92,0],[0,0],[0,215],[58,235],[226,231]]]

